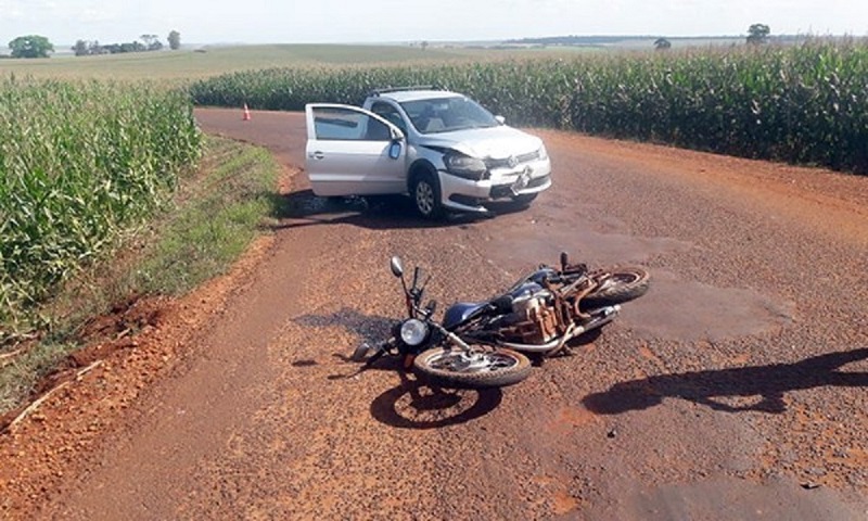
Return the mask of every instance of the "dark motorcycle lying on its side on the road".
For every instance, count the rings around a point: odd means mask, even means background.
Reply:
[[[422,307],[422,270],[413,271],[408,288],[398,257],[392,272],[401,281],[408,318],[393,328],[392,338],[371,348],[360,345],[353,359],[370,367],[385,354],[400,355],[422,379],[442,387],[483,389],[519,383],[531,372],[524,353],[552,356],[571,340],[611,322],[621,304],[643,295],[650,283],[638,267],[589,270],[571,265],[561,254],[561,268],[540,265],[503,294],[478,302],[452,304],[443,322],[433,319],[436,302]],[[370,357],[368,357],[370,355]]]

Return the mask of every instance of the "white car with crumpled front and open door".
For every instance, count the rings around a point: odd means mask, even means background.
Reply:
[[[465,96],[431,88],[374,91],[363,106],[311,103],[306,170],[322,196],[409,194],[423,217],[529,204],[551,186],[542,141]]]

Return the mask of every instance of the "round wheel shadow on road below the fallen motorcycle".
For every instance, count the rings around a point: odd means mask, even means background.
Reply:
[[[411,374],[399,371],[400,385],[371,403],[371,416],[397,429],[439,429],[465,423],[487,415],[500,405],[499,389],[445,390],[429,387]]]

